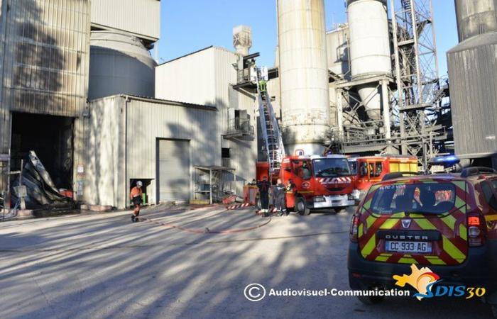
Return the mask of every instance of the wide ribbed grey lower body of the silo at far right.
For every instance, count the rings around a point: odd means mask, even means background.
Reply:
[[[449,50],[450,101],[456,154],[497,152],[497,33]]]

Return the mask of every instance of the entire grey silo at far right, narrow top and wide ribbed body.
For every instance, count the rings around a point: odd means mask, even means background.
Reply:
[[[497,1],[455,3],[459,44],[447,52],[455,153],[497,168]]]

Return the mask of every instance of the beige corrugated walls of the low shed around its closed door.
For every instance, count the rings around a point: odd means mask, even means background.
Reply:
[[[89,118],[77,123],[84,132],[84,183],[81,199],[90,204],[124,208],[130,179],[151,179],[148,200],[156,201],[159,139],[189,140],[191,165],[221,164],[215,108],[111,96],[90,102]],[[174,156],[172,154],[171,156]],[[191,174],[191,173],[190,173]],[[191,179],[190,179],[191,180]],[[188,189],[190,192],[192,189]]]

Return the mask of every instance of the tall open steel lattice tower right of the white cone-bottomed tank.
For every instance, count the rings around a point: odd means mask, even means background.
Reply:
[[[394,95],[399,117],[400,151],[417,156],[424,169],[435,155],[434,139],[446,138],[434,108],[443,99],[431,0],[390,0],[395,57]],[[441,93],[442,92],[442,93]]]

